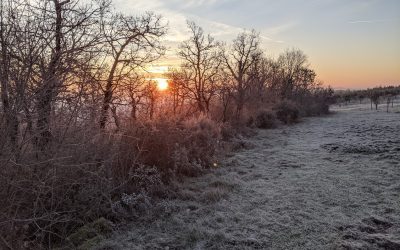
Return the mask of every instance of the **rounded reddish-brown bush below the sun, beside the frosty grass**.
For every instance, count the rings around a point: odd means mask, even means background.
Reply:
[[[121,137],[116,176],[124,180],[139,166],[156,167],[164,182],[175,174],[195,176],[211,165],[220,137],[220,126],[205,116],[135,124]]]

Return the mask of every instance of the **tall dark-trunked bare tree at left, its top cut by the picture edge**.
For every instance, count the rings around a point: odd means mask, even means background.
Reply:
[[[37,82],[36,110],[37,144],[44,149],[51,139],[50,116],[54,100],[73,78],[101,42],[98,19],[108,7],[92,1],[80,4],[76,0],[52,0],[35,4],[39,32],[32,39],[41,41],[38,59],[40,80]]]

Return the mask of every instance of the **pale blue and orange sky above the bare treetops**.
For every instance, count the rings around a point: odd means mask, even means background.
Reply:
[[[177,46],[195,21],[217,40],[243,30],[260,32],[267,56],[303,50],[318,79],[337,89],[400,84],[400,0],[114,0],[126,14],[153,11],[168,22],[166,56],[154,65],[177,66]]]

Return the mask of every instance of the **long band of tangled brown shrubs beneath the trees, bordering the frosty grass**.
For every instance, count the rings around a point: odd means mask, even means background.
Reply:
[[[98,218],[118,220],[147,210],[151,196],[175,175],[194,176],[211,166],[221,137],[219,124],[203,116],[121,131],[80,131],[54,145],[48,159],[29,155],[18,164],[0,162],[4,241],[15,242],[16,249],[51,248]]]

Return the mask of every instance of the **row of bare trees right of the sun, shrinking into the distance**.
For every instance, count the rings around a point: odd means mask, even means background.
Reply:
[[[316,81],[301,50],[286,50],[275,60],[265,56],[254,30],[225,44],[193,22],[188,28],[191,37],[178,52],[182,65],[168,75],[171,92],[181,98],[174,110],[179,103],[192,103],[197,111],[211,112],[222,121],[240,120],[245,111],[289,100],[301,105],[307,115],[328,111],[333,91]],[[313,107],[316,99],[318,107]]]

